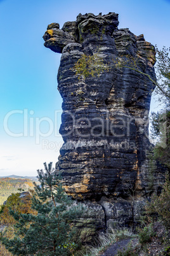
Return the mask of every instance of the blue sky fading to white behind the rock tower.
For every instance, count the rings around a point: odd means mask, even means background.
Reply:
[[[119,13],[119,28],[144,34],[159,48],[169,46],[169,0],[0,0],[0,176],[36,176],[43,162],[58,159],[62,99],[56,75],[61,55],[43,45],[47,25],[58,22],[62,27],[79,13],[109,11]],[[154,101],[152,110],[157,110]]]

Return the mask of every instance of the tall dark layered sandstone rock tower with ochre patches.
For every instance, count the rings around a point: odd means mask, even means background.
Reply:
[[[105,227],[133,218],[129,191],[143,201],[162,182],[162,169],[148,158],[148,112],[155,80],[154,46],[143,35],[117,29],[116,13],[77,16],[75,22],[48,25],[44,46],[62,53],[58,90],[63,98],[57,167],[74,199],[100,204]],[[136,69],[112,68],[79,80],[72,70],[82,54],[105,64],[135,59]],[[145,74],[147,75],[145,75]],[[151,168],[152,167],[152,168]]]

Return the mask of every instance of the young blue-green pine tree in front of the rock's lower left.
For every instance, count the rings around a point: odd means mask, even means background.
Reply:
[[[41,185],[35,185],[32,209],[37,215],[21,214],[11,210],[16,232],[13,239],[1,235],[1,241],[13,255],[70,255],[74,249],[72,221],[79,217],[82,208],[76,206],[63,191],[60,177],[52,168],[38,170]]]

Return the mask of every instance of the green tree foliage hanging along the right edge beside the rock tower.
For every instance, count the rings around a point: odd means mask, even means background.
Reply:
[[[154,157],[170,168],[170,47],[157,52],[157,86],[155,92],[166,108],[152,113],[152,138],[157,139]]]

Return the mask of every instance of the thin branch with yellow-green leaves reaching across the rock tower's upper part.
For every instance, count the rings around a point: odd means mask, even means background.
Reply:
[[[170,48],[169,48],[170,49]],[[161,60],[162,52],[159,51],[157,48],[158,55],[158,61]],[[169,57],[168,57],[168,49],[164,48],[164,51],[166,50],[166,70],[162,67],[162,64],[157,64],[157,69],[159,70],[159,83],[156,80],[153,80],[150,75],[147,73],[144,73],[140,71],[138,68],[138,61],[140,60],[139,57],[132,57],[131,55],[121,56],[117,57],[116,59],[112,59],[112,62],[114,64],[105,63],[102,57],[100,57],[99,51],[94,53],[93,55],[86,55],[82,54],[81,58],[74,64],[74,67],[71,68],[72,71],[75,72],[75,75],[77,75],[78,79],[85,80],[89,76],[100,76],[101,73],[104,71],[112,71],[113,68],[128,68],[131,70],[134,70],[141,75],[147,76],[147,78],[154,83],[154,85],[157,87],[159,92],[164,97],[169,97],[169,92],[167,91],[167,86],[169,86],[169,83],[167,82],[167,79],[170,77],[170,72],[167,72],[169,70]],[[160,61],[159,61],[160,62]],[[161,83],[160,83],[160,76],[161,76]],[[162,86],[162,76],[164,76],[164,86]]]

